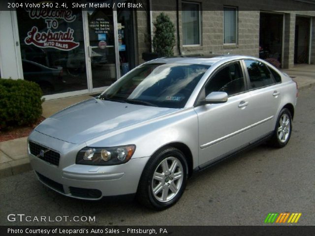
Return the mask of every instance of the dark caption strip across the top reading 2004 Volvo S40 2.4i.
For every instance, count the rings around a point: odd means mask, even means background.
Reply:
[[[83,0],[62,0],[62,1],[38,1],[38,0],[7,0],[0,1],[0,10],[21,10],[23,8],[50,8],[67,10],[89,10],[90,8],[101,9],[123,9],[148,11],[177,11],[177,0],[152,0],[151,7],[147,0],[110,0],[110,1],[83,1]],[[181,1],[179,1],[181,2]],[[221,11],[224,5],[237,6],[240,11],[314,11],[315,0],[198,0],[203,11]],[[180,4],[179,4],[180,5]],[[301,14],[301,13],[298,13]]]

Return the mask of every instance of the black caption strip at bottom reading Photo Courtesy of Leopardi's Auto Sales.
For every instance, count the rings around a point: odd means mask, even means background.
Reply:
[[[315,226],[0,226],[1,236],[312,236]]]

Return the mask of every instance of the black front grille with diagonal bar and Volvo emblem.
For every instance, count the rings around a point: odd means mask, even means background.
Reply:
[[[53,151],[49,148],[45,148],[33,142],[29,143],[29,147],[30,147],[30,152],[34,156],[44,161],[47,161],[55,166],[59,165],[60,154],[58,152]]]

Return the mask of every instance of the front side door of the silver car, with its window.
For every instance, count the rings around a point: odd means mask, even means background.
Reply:
[[[247,130],[251,125],[248,111],[250,94],[243,74],[240,62],[231,62],[219,68],[201,91],[195,106],[200,168],[250,141]],[[212,91],[225,91],[228,94],[227,102],[202,105],[200,101]]]

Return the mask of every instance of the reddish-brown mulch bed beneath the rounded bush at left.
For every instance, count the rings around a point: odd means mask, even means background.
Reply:
[[[31,126],[18,126],[8,130],[0,130],[0,142],[29,136],[32,130],[44,119],[45,118],[40,117],[37,122]]]

